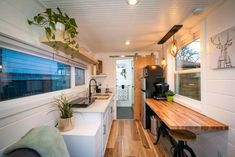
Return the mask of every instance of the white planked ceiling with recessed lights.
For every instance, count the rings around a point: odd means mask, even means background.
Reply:
[[[124,52],[153,51],[155,43],[192,16],[194,8],[207,8],[219,0],[140,0],[136,6],[128,6],[126,0],[40,1],[75,17],[79,40],[93,52]]]

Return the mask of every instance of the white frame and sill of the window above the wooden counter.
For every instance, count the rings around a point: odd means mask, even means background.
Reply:
[[[201,40],[200,37],[194,38],[193,40],[190,40],[189,42],[183,44],[180,47],[180,49],[185,47],[185,46],[187,46],[187,45],[189,45],[190,43],[192,43],[192,42],[194,42],[194,41],[196,41],[198,39]],[[201,41],[200,41],[200,45],[201,45]],[[202,58],[201,50],[200,50],[200,58]],[[192,107],[193,109],[195,109],[197,111],[202,111],[202,109],[203,109],[203,103],[202,103],[202,67],[186,69],[186,70],[176,70],[175,60],[176,60],[176,58],[173,59],[173,74],[174,74],[174,77],[173,77],[174,78],[173,79],[174,80],[173,81],[174,84],[173,84],[173,86],[174,86],[174,89],[176,90],[176,85],[175,85],[175,75],[176,74],[190,74],[190,73],[200,72],[201,100],[196,100],[196,99],[192,99],[192,98],[189,98],[189,97],[186,97],[186,96],[183,96],[183,95],[175,94],[174,101],[177,102],[177,103],[183,104],[183,105],[185,105],[187,107]],[[202,66],[202,64],[201,64],[201,66]]]

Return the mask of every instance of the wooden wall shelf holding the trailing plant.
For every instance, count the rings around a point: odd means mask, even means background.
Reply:
[[[53,45],[56,44],[59,51],[62,51],[66,54],[74,53],[75,58],[81,59],[87,63],[98,64],[98,61],[91,54],[86,52],[83,48],[77,49],[72,46],[69,46],[66,48],[66,46],[67,46],[66,42],[62,38],[48,41],[48,39],[46,37],[42,37],[42,38],[40,38],[40,42],[43,44],[46,44],[52,48],[53,48]]]

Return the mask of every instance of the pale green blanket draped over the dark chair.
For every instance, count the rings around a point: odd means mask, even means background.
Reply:
[[[57,128],[52,126],[31,129],[18,142],[8,147],[3,154],[7,156],[21,148],[32,149],[41,157],[69,157],[62,135]]]

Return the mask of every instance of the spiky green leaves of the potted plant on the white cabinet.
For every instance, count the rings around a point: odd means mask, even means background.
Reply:
[[[69,103],[66,96],[59,96],[59,98],[56,99],[56,105],[58,106],[60,111],[60,118],[66,119],[73,116],[72,104]]]

